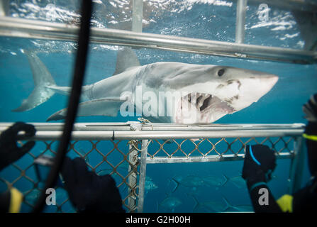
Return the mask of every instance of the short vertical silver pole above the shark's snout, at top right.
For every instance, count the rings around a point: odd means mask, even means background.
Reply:
[[[235,43],[243,43],[245,40],[245,13],[248,0],[238,0],[237,18],[235,20]]]

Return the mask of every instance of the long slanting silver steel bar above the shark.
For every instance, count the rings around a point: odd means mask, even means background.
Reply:
[[[7,16],[0,17],[0,35],[4,36],[74,41],[77,40],[78,31],[79,28],[77,26],[70,24],[34,21]],[[154,48],[301,64],[313,63],[317,60],[317,52],[313,51],[228,43],[152,33],[135,33],[109,28],[91,28],[90,40],[91,43],[128,45],[136,48]]]

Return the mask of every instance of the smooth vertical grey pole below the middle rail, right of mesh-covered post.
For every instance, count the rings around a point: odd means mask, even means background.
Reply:
[[[142,140],[142,152],[140,157],[140,179],[139,179],[139,194],[138,194],[138,213],[143,212],[144,194],[145,194],[145,179],[146,179],[146,157],[148,155],[148,140]]]

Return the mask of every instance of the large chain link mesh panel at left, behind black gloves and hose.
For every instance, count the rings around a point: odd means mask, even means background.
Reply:
[[[23,205],[29,206],[29,211],[33,208],[35,201],[43,188],[36,173],[34,160],[40,155],[54,157],[57,151],[56,141],[37,141],[35,147],[21,160],[6,168],[0,175],[0,181],[6,188],[17,187],[23,192]],[[131,153],[135,158],[131,158]],[[138,178],[139,162],[138,151],[129,149],[128,140],[104,140],[104,141],[72,141],[69,145],[67,155],[69,157],[82,157],[91,171],[97,175],[111,175],[121,194],[123,207],[126,211],[133,212],[136,209],[136,199],[138,197],[138,187],[136,182],[131,184],[130,178]],[[6,176],[6,177],[3,177]],[[53,212],[74,212],[75,209],[70,204],[65,189],[55,187],[56,206]],[[135,201],[134,203],[132,201]],[[50,210],[51,211],[51,210]]]

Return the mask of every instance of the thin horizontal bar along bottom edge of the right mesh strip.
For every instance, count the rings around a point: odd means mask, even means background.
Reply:
[[[277,155],[278,159],[291,158],[291,153],[280,153]],[[243,160],[244,154],[238,155],[208,155],[208,156],[194,156],[194,157],[147,157],[146,164],[157,163],[183,163],[183,162],[223,162],[223,161],[238,161]]]

